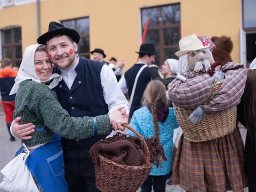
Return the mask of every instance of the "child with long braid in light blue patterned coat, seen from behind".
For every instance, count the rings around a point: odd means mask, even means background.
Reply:
[[[179,126],[173,108],[169,108],[166,99],[166,87],[161,81],[153,80],[148,83],[143,94],[142,108],[132,115],[130,125],[143,137],[159,138],[167,161],[157,168],[153,165],[150,175],[141,186],[141,191],[165,191],[168,173],[172,170],[173,130]],[[132,131],[127,134],[135,135]]]

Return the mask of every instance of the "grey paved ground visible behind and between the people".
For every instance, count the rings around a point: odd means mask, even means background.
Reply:
[[[243,132],[242,135],[245,135]],[[4,115],[2,112],[2,106],[0,106],[0,170],[14,157],[14,153],[20,148],[20,140],[15,142],[9,141],[9,134],[7,126],[4,121]],[[2,181],[3,175],[0,173],[0,182]],[[138,190],[137,192],[139,192]],[[166,192],[184,192],[180,186],[166,185]],[[0,190],[0,192],[3,192]]]

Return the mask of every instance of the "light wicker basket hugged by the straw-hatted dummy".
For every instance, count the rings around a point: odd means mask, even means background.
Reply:
[[[221,87],[222,81],[218,81],[212,86],[207,103],[212,99],[217,90]],[[184,133],[184,137],[193,142],[214,140],[215,138],[223,137],[233,132],[236,127],[237,108],[234,106],[226,111],[221,111],[214,114],[207,114],[201,119],[199,124],[192,124],[189,120],[189,115],[194,109],[180,108],[173,103],[173,108],[177,115],[180,127]]]

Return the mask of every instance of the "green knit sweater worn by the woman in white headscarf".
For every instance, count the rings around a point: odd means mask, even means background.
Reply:
[[[56,93],[45,84],[25,80],[20,83],[16,99],[14,118],[22,116],[20,124],[32,122],[35,128],[48,127],[44,131],[30,134],[31,140],[23,140],[27,147],[51,142],[54,133],[68,139],[88,138],[94,136],[93,118],[70,117],[58,103]],[[108,115],[96,116],[97,134],[111,132]]]

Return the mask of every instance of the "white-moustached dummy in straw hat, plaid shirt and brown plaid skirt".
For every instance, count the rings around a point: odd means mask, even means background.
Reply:
[[[179,41],[179,75],[168,86],[171,102],[194,109],[189,119],[197,124],[209,113],[219,113],[236,106],[242,97],[247,73],[243,65],[215,63],[209,44],[196,35]],[[223,82],[209,102],[211,88]],[[186,191],[243,191],[243,144],[236,127],[231,134],[209,141],[192,142],[180,138],[173,161],[172,184]]]

